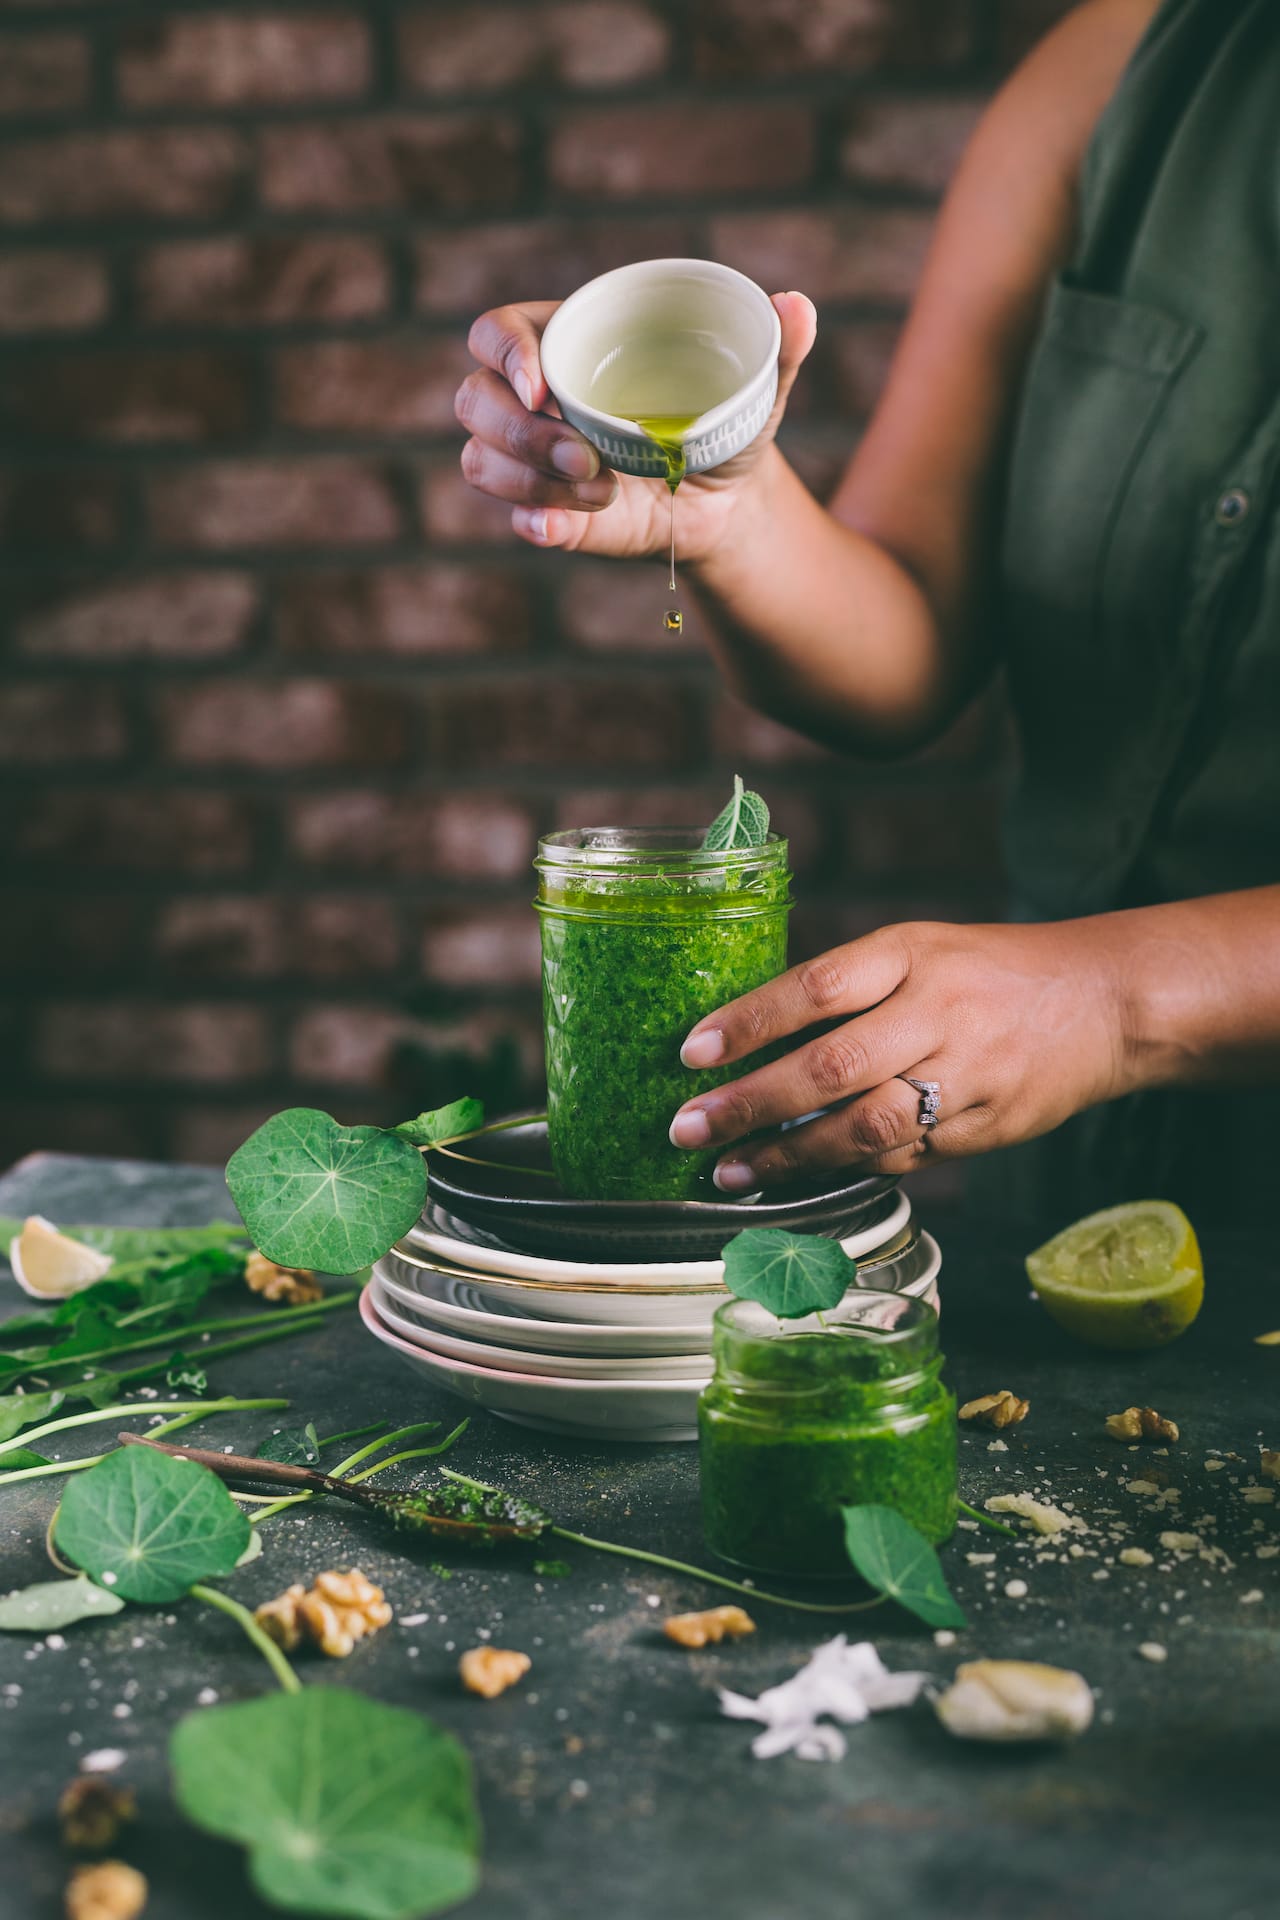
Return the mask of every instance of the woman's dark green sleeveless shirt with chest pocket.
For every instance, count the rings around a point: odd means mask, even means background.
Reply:
[[[1280,6],[1167,0],[1094,132],[1011,449],[1013,918],[1280,881],[1278,465]],[[971,1162],[971,1196],[1272,1219],[1270,1104],[1117,1100]]]

